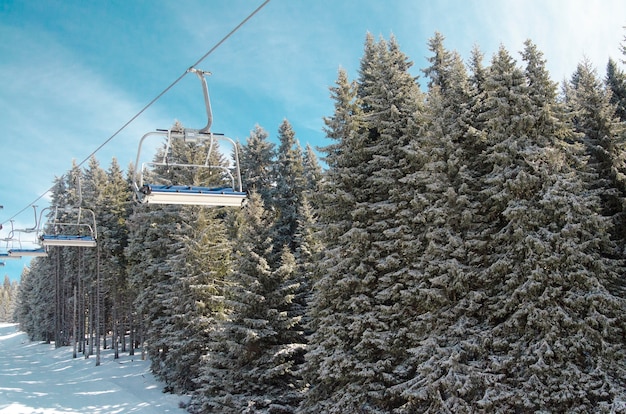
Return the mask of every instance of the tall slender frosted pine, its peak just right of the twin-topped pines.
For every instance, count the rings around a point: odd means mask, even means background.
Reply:
[[[395,388],[407,398],[398,412],[457,412],[457,388],[471,376],[466,348],[478,330],[467,309],[480,297],[473,286],[469,251],[476,226],[475,154],[468,142],[467,107],[471,88],[460,56],[443,47],[435,34],[422,133],[407,146],[410,173],[403,178],[409,193],[405,213],[411,225],[410,251],[415,276],[410,358],[413,376]],[[451,364],[450,361],[455,361]]]

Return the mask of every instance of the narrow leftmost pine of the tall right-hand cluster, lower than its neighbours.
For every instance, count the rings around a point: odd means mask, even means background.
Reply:
[[[319,209],[319,235],[326,244],[323,254],[313,264],[313,272],[319,279],[314,280],[315,293],[306,316],[309,330],[318,332],[317,338],[314,339],[316,342],[321,342],[329,336],[336,337],[338,333],[342,335],[340,326],[327,323],[333,321],[337,298],[334,295],[341,295],[341,292],[335,290],[337,289],[335,280],[339,279],[339,275],[334,270],[343,259],[343,245],[339,238],[352,227],[351,212],[356,205],[353,190],[360,184],[354,181],[356,177],[350,173],[360,165],[362,159],[360,155],[362,147],[356,135],[358,123],[361,122],[361,117],[358,116],[361,107],[356,94],[356,83],[351,82],[346,71],[340,68],[335,86],[330,87],[330,92],[334,100],[334,114],[325,118],[324,122],[326,136],[334,140],[334,143],[322,148],[325,154],[323,159],[329,168],[325,171],[321,190],[317,194],[320,206],[323,207]],[[333,295],[331,291],[334,291]],[[328,297],[326,293],[322,295],[322,292],[328,292]],[[324,331],[327,328],[328,330]],[[308,349],[304,374],[305,380],[313,386],[307,390],[303,412],[316,411],[331,392],[333,383],[330,379],[319,381],[320,375],[326,374],[324,367],[330,365],[326,362],[327,358],[329,362],[339,363],[337,359],[329,358],[330,354],[331,350],[322,344],[313,344],[313,347]]]

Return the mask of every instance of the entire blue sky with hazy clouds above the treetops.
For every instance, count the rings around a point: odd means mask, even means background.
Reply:
[[[0,2],[0,223],[32,226],[29,205],[83,161],[230,32],[262,0],[2,0]],[[288,119],[304,146],[326,145],[328,87],[351,78],[367,32],[396,36],[420,74],[435,31],[469,58],[500,45],[518,58],[525,39],[553,80],[588,59],[604,76],[624,58],[623,0],[271,0],[198,67],[209,78],[212,130],[245,141],[256,124],[271,139]],[[622,66],[623,67],[623,66]],[[422,85],[425,82],[422,81]],[[206,124],[200,83],[187,75],[96,154],[104,168],[134,161],[140,137],[175,120]],[[43,197],[36,203],[47,206]],[[19,213],[25,209],[24,212]],[[4,245],[0,245],[2,251]],[[25,261],[0,268],[18,280]]]

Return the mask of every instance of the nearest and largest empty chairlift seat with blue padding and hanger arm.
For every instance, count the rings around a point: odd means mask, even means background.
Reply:
[[[243,191],[241,183],[241,171],[239,167],[239,154],[237,153],[237,145],[235,142],[223,134],[211,132],[211,124],[213,122],[213,114],[211,111],[211,102],[209,99],[209,89],[206,82],[206,75],[210,72],[201,71],[190,68],[188,72],[193,72],[200,78],[202,83],[204,102],[207,111],[207,125],[202,129],[168,129],[157,130],[145,134],[140,142],[137,151],[137,160],[135,162],[135,174],[133,178],[133,187],[137,199],[145,204],[178,204],[178,205],[198,205],[213,207],[241,207],[246,199],[246,193]],[[144,162],[139,166],[141,159],[141,149],[147,138],[162,137],[166,140],[166,147],[163,159],[157,162]],[[204,164],[182,164],[168,162],[168,157],[173,149],[175,141],[190,143],[208,143],[209,149]],[[223,165],[211,164],[211,155],[213,150],[220,142],[230,144],[233,148],[233,168]],[[219,187],[189,185],[189,184],[155,184],[147,183],[146,178],[150,171],[155,168],[169,169],[172,167],[188,168],[191,170],[215,170],[222,174],[226,181],[226,185]]]

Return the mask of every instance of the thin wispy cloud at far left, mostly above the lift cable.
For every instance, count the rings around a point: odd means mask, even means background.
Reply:
[[[3,189],[2,198],[15,206],[50,188],[72,160],[85,159],[145,103],[84,65],[53,36],[3,26],[0,37],[15,40],[0,45],[3,56],[13,57],[0,62],[0,78],[8,80],[0,94],[0,171],[4,183],[18,185]],[[138,139],[155,128],[149,117],[157,111],[139,118],[96,154],[105,168],[113,156],[122,167],[134,161]]]

